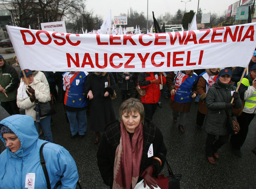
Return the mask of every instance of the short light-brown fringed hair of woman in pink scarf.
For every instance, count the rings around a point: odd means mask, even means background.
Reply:
[[[139,99],[136,98],[129,98],[128,100],[124,101],[120,108],[119,108],[119,121],[120,123],[123,121],[122,120],[122,115],[123,114],[131,114],[132,112],[134,113],[139,113],[141,116],[141,123],[144,123],[144,117],[145,117],[145,110],[144,106],[141,103]]]

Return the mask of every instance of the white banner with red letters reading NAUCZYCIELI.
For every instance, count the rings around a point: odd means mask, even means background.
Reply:
[[[247,67],[256,23],[140,35],[86,35],[6,26],[22,69],[177,71]]]

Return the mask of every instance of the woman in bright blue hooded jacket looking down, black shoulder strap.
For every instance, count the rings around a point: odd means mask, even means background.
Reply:
[[[0,138],[5,149],[0,154],[0,189],[47,189],[39,149],[45,140],[38,139],[34,120],[29,115],[12,115],[0,122]],[[43,155],[51,188],[60,180],[59,188],[75,188],[78,172],[69,152],[54,143],[47,143]]]

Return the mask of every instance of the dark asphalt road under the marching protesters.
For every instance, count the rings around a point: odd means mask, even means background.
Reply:
[[[181,188],[256,188],[256,156],[251,149],[256,146],[255,119],[251,122],[244,146],[242,157],[232,152],[230,142],[219,151],[220,158],[215,165],[208,163],[205,155],[205,140],[207,134],[196,127],[197,104],[192,103],[186,125],[185,133],[181,134],[177,124],[172,121],[169,100],[165,99],[162,91],[163,108],[157,108],[153,122],[163,133],[167,147],[167,160],[174,173],[181,173]],[[117,89],[117,99],[113,100],[116,116],[121,105],[121,94]],[[100,176],[97,167],[96,153],[98,145],[93,143],[95,133],[88,128],[86,136],[82,139],[70,139],[70,127],[64,116],[63,105],[55,104],[57,114],[53,115],[52,126],[53,142],[65,147],[76,161],[79,181],[82,188],[109,188]],[[0,120],[9,116],[0,107]],[[5,147],[0,142],[1,149]],[[162,171],[167,175],[167,168]]]

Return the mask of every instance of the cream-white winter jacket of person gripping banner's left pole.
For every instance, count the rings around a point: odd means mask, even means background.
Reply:
[[[24,81],[22,81],[24,82]],[[47,102],[51,100],[50,90],[46,88],[45,84],[37,79],[34,79],[34,83],[31,85],[35,89],[35,97],[39,102]],[[34,121],[36,121],[36,111],[34,108],[36,105],[30,101],[30,98],[20,100],[17,96],[17,106],[21,109],[25,109],[26,115],[30,115]],[[40,117],[40,119],[45,117]]]

